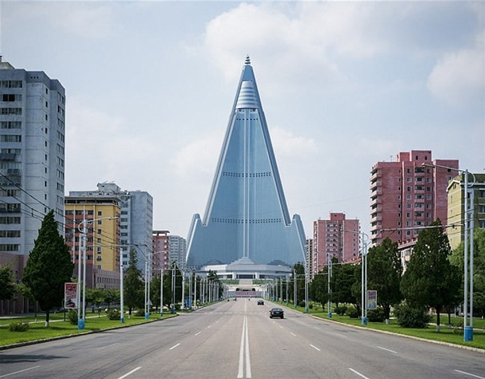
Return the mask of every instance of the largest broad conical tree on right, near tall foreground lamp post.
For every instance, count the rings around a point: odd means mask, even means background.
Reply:
[[[448,236],[441,221],[432,222],[419,233],[412,256],[400,282],[400,290],[410,306],[436,310],[436,330],[440,328],[441,309],[448,306],[459,291],[459,275],[449,261]]]

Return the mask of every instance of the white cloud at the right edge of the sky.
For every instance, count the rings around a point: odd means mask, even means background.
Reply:
[[[484,62],[485,33],[482,33],[477,38],[475,49],[461,49],[443,55],[427,78],[427,88],[450,105],[483,101]]]

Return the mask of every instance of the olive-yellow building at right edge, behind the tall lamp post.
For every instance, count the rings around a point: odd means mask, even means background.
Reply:
[[[475,180],[475,182],[474,182]],[[446,229],[452,249],[465,240],[465,174],[448,184],[448,224]],[[485,229],[485,174],[468,173],[468,227]]]

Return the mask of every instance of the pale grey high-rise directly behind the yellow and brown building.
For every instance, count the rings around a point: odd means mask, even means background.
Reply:
[[[121,208],[119,218],[121,262],[128,265],[131,249],[136,252],[138,268],[145,270],[145,259],[152,249],[153,198],[145,191],[123,191],[114,183],[98,183],[95,191],[71,191],[70,196],[117,197]]]

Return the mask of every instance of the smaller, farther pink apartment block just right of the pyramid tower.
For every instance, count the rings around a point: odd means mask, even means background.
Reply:
[[[330,259],[351,263],[359,259],[360,222],[348,220],[344,213],[330,213],[328,220],[313,222],[312,274],[315,275]]]

